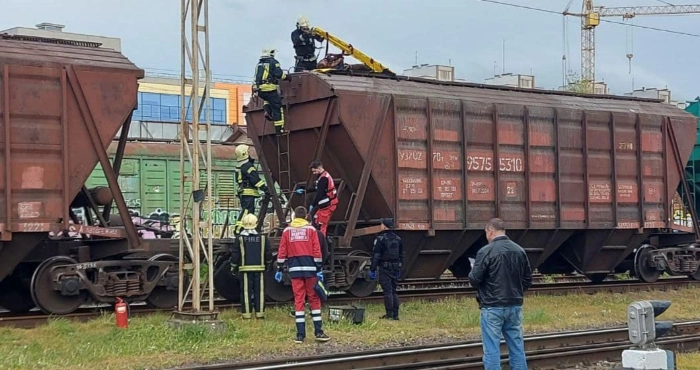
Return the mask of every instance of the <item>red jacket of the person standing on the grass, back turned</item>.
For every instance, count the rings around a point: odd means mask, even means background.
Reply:
[[[295,218],[282,232],[277,251],[277,269],[287,263],[289,277],[314,277],[321,270],[323,259],[316,228],[308,221]]]

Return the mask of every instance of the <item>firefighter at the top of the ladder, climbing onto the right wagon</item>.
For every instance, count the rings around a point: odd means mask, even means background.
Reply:
[[[275,49],[263,49],[260,61],[255,67],[253,92],[265,101],[263,104],[265,118],[272,121],[277,134],[284,133],[282,98],[277,91],[277,85],[280,80],[289,79],[290,77],[280,67],[280,62],[275,59]]]

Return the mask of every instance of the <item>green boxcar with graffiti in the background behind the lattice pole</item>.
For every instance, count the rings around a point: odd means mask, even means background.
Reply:
[[[232,224],[240,213],[240,204],[236,197],[237,186],[233,171],[238,164],[234,154],[235,146],[215,145],[212,147],[212,195],[214,211],[212,223],[214,235],[222,235],[227,227],[231,235]],[[109,147],[113,158],[116,144]],[[187,170],[189,171],[189,166]],[[206,172],[201,172],[201,184],[204,188]],[[179,143],[127,143],[122,167],[119,171],[119,187],[124,194],[129,211],[134,216],[168,221],[180,214],[180,144]],[[88,178],[88,188],[107,186],[102,166],[97,165]],[[189,188],[189,186],[187,185]],[[185,188],[186,194],[190,189]],[[191,195],[190,202],[191,202]],[[185,199],[187,202],[187,198]],[[113,206],[116,213],[116,207]],[[205,215],[206,217],[206,215]],[[227,220],[228,217],[228,220]]]

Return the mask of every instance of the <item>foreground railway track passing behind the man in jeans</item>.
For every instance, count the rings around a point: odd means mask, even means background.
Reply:
[[[700,349],[700,321],[680,322],[669,336],[657,340],[664,349],[693,351]],[[591,329],[529,335],[525,352],[529,369],[563,369],[620,360],[630,347],[626,327]],[[260,362],[214,364],[181,368],[183,370],[326,370],[341,369],[480,369],[483,368],[481,342],[390,348],[365,352],[335,353],[306,358],[286,358]],[[507,364],[507,349],[501,343],[501,363]]]

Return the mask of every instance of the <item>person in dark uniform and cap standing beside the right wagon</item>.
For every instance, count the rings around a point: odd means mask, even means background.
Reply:
[[[379,267],[379,285],[384,293],[384,309],[386,315],[382,319],[399,319],[399,296],[396,294],[396,285],[401,276],[403,265],[403,243],[401,238],[391,229],[394,228],[394,220],[385,218],[382,220],[382,232],[374,239],[372,251],[372,265],[370,278],[377,278]]]

